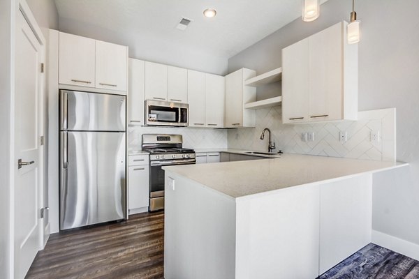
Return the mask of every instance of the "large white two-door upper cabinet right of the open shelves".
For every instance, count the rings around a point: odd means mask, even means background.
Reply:
[[[283,123],[356,120],[358,45],[339,22],[282,50]]]

